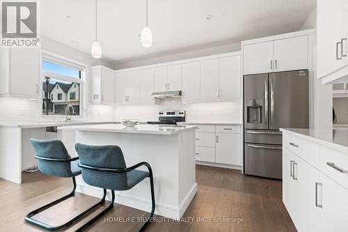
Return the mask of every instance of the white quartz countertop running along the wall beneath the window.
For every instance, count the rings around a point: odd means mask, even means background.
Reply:
[[[0,127],[20,127],[23,129],[28,128],[39,128],[39,127],[54,127],[62,125],[84,125],[84,124],[104,124],[104,123],[114,123],[113,121],[70,121],[65,123],[63,121],[58,122],[37,122],[37,123],[0,123]]]

